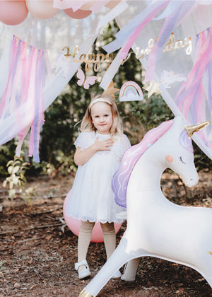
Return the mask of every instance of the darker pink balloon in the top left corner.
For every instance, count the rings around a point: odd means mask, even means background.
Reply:
[[[24,0],[0,1],[0,21],[6,25],[18,25],[28,16]]]

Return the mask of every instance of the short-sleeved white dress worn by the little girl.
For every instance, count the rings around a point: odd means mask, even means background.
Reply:
[[[91,146],[96,137],[99,141],[111,137],[98,132],[82,132],[75,141],[76,148],[82,150]],[[110,151],[98,151],[84,165],[78,166],[73,187],[68,193],[66,214],[83,221],[101,223],[122,223],[117,213],[125,211],[114,202],[111,180],[119,168],[124,151],[130,146],[126,135],[113,136],[114,144]]]

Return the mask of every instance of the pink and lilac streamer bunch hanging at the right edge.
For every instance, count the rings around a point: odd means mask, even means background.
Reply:
[[[194,66],[185,81],[179,88],[175,97],[175,102],[184,114],[188,122],[194,124],[206,119],[208,107],[210,114],[212,109],[211,102],[211,74],[212,74],[212,34],[211,28],[196,35],[196,52]],[[208,76],[208,90],[204,88],[204,76]],[[191,117],[192,116],[192,117]],[[211,117],[212,118],[212,117]],[[211,120],[211,119],[209,119]],[[211,148],[209,141],[212,139],[212,132],[208,134],[208,129],[198,132],[200,139]]]

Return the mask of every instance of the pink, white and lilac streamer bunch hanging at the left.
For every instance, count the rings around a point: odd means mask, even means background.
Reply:
[[[18,127],[16,156],[20,156],[23,139],[31,127],[29,154],[39,162],[38,146],[40,127],[43,124],[42,89],[45,80],[45,52],[29,46],[13,35],[8,80],[1,98],[0,122],[14,112]],[[21,108],[28,103],[30,113],[23,115]],[[28,124],[23,124],[28,117]]]

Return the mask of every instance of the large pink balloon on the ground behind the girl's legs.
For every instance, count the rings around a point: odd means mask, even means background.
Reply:
[[[67,226],[71,230],[71,232],[73,234],[75,234],[76,236],[78,236],[78,232],[79,232],[79,229],[80,229],[80,226],[81,226],[81,221],[78,220],[78,219],[73,219],[72,216],[67,216],[66,215],[66,206],[67,206],[67,203],[68,203],[68,199],[69,199],[69,197],[66,196],[66,199],[64,200],[64,209],[63,209],[64,210],[64,219],[66,221]],[[122,226],[122,223],[114,223],[114,228],[115,228],[116,233],[119,231],[121,226]],[[95,223],[95,226],[93,227],[93,231],[92,231],[90,241],[93,242],[93,243],[103,243],[104,242],[100,222]]]

